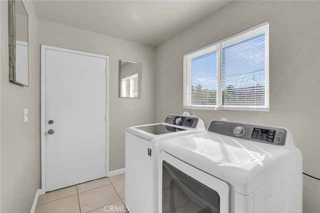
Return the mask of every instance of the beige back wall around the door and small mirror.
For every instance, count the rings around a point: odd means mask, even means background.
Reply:
[[[38,43],[109,56],[109,170],[124,168],[125,129],[154,120],[154,48],[42,19]],[[141,98],[118,97],[120,59],[142,64]]]

